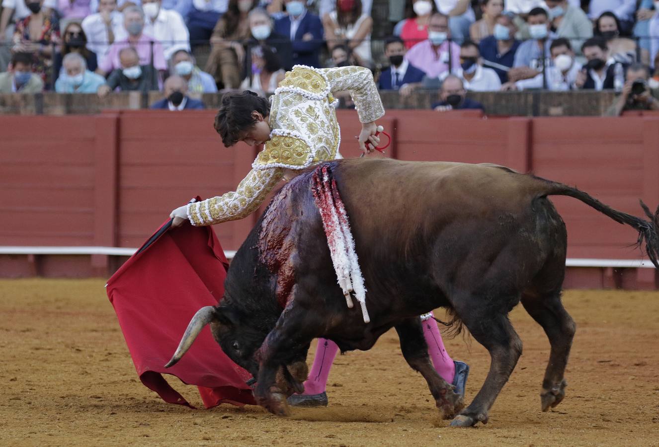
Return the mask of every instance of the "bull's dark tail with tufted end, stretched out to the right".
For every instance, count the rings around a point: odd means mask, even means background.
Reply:
[[[541,179],[544,180],[544,179]],[[643,200],[640,200],[641,207],[645,211],[645,215],[648,217],[648,221],[641,219],[622,211],[617,211],[608,205],[600,202],[598,199],[591,197],[583,191],[577,190],[577,188],[571,188],[565,184],[558,182],[551,182],[549,180],[544,180],[549,184],[549,189],[545,189],[542,196],[569,196],[574,197],[583,201],[586,205],[593,207],[600,213],[607,215],[617,223],[627,224],[639,232],[639,238],[637,240],[637,246],[639,248],[643,247],[643,242],[645,241],[645,251],[650,258],[650,261],[654,264],[654,267],[659,269],[659,207],[654,214],[648,209],[647,205],[643,203]]]

